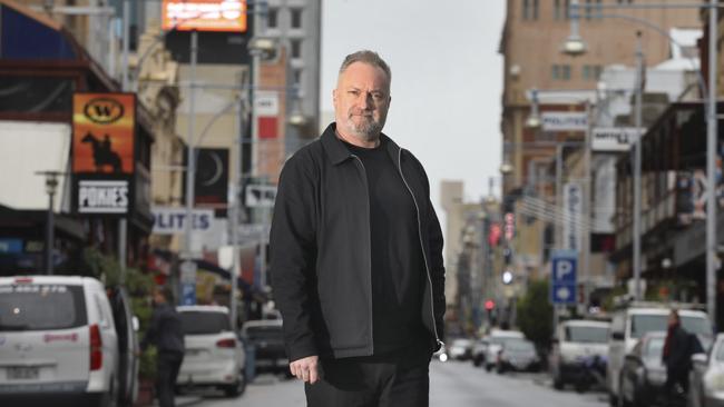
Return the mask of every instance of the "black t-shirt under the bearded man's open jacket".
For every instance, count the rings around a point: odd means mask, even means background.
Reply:
[[[345,142],[363,163],[370,196],[372,332],[374,354],[402,349],[424,338],[424,262],[418,214],[384,141],[376,148]]]

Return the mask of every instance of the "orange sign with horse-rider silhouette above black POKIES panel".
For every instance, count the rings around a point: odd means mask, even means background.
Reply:
[[[133,93],[75,93],[74,211],[127,215],[133,207],[136,98]]]

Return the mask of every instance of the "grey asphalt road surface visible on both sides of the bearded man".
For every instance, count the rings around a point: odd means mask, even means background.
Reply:
[[[577,394],[573,389],[554,390],[546,374],[517,374],[500,376],[476,368],[470,363],[432,363],[430,366],[432,407],[603,407],[607,398],[603,393]],[[261,376],[246,388],[238,399],[206,396],[184,406],[204,407],[297,407],[304,406],[300,381],[280,380]]]

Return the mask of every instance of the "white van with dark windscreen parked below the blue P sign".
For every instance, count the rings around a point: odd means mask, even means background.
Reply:
[[[588,357],[608,357],[609,322],[567,320],[558,325],[550,353],[550,374],[554,387],[564,388],[576,383]]]

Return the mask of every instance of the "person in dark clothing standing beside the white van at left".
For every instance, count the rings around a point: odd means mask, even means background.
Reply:
[[[154,289],[154,312],[140,348],[156,346],[156,391],[160,407],[174,407],[174,387],[184,360],[184,331],[168,288]]]

